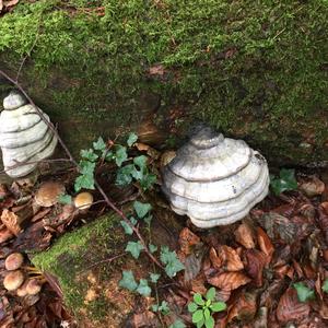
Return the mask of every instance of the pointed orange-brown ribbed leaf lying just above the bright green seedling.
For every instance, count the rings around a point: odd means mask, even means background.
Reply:
[[[232,291],[251,281],[242,272],[223,272],[208,278],[208,283],[221,290]]]

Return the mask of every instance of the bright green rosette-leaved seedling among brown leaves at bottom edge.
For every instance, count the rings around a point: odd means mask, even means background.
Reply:
[[[194,302],[188,304],[188,311],[192,313],[192,323],[197,328],[206,326],[206,328],[213,328],[215,323],[213,314],[226,308],[224,302],[214,302],[215,289],[210,288],[204,296],[196,293],[194,295]]]

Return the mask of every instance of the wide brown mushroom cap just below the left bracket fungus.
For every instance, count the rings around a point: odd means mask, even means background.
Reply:
[[[65,194],[65,186],[61,183],[46,181],[40,185],[35,194],[35,202],[49,208],[58,202],[58,196]]]

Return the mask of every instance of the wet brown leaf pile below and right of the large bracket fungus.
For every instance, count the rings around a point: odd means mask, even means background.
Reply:
[[[325,189],[318,177],[303,176],[298,191],[270,196],[231,231],[185,227],[179,258],[186,272],[179,277],[180,288],[174,291],[185,297],[185,306],[180,302],[175,315],[191,324],[186,307],[192,295],[215,286],[216,301],[227,304],[224,313],[214,315],[215,327],[327,327]],[[229,236],[223,236],[225,233]],[[315,297],[300,301],[296,282],[314,291]]]

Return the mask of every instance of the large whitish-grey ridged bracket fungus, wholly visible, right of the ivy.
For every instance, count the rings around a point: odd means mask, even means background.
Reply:
[[[163,168],[172,209],[198,227],[231,224],[268,194],[266,160],[245,141],[199,130]]]

